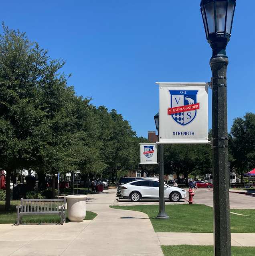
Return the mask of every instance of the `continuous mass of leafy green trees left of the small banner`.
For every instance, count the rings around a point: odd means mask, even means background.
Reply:
[[[62,59],[19,30],[3,25],[0,35],[0,168],[6,170],[6,209],[10,175],[16,169],[51,174],[80,170],[133,170],[138,166],[136,133],[116,110],[77,96],[61,73]]]

